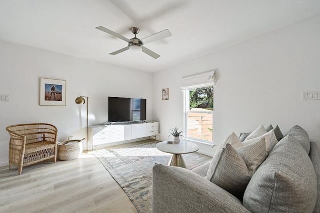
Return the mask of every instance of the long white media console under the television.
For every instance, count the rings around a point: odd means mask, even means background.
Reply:
[[[93,146],[126,141],[159,134],[159,123],[154,121],[112,123],[89,126],[89,141]]]

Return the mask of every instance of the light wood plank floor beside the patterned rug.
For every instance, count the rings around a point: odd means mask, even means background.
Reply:
[[[0,167],[0,212],[137,213],[94,152],[26,166],[19,176],[15,166]]]

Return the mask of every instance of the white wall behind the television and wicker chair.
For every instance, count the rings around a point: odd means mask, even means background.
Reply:
[[[39,78],[66,80],[66,106],[39,106]],[[59,141],[85,137],[86,107],[74,102],[80,95],[89,97],[89,125],[107,120],[107,96],[146,98],[152,120],[151,73],[0,41],[0,79],[0,94],[11,98],[0,102],[0,166],[8,164],[8,125],[51,123]]]

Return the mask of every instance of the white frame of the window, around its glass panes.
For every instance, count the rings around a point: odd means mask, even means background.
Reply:
[[[197,87],[197,88],[202,88],[202,87]],[[187,135],[187,130],[188,130],[187,129],[187,115],[189,112],[212,114],[212,117],[213,117],[213,111],[211,113],[203,112],[203,111],[190,111],[189,110],[189,106],[190,106],[189,93],[190,93],[189,89],[183,90],[183,130],[184,130],[184,134],[185,134],[184,140],[212,145],[213,144],[213,132],[212,132],[212,141],[206,141],[206,140],[202,140],[202,139],[198,139],[198,138],[191,138],[191,137],[188,137],[188,135]],[[212,129],[213,129],[213,122],[214,121],[212,120]]]

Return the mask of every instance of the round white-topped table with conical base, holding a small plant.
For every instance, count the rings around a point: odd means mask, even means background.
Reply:
[[[183,167],[186,168],[182,154],[188,154],[199,150],[198,145],[181,140],[180,143],[168,144],[167,141],[159,142],[155,147],[166,153],[171,153],[168,166]]]

